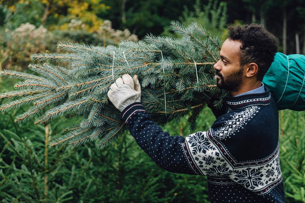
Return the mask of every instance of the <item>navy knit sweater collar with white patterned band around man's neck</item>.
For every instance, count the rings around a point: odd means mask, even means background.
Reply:
[[[231,109],[242,109],[249,106],[266,106],[271,102],[271,94],[265,86],[264,93],[246,94],[242,96],[224,96],[223,100]]]

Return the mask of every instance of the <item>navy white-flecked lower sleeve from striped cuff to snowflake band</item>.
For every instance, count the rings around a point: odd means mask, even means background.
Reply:
[[[133,103],[122,111],[123,120],[138,145],[161,168],[174,173],[199,175],[189,166],[182,136],[170,136],[150,120],[141,103]]]

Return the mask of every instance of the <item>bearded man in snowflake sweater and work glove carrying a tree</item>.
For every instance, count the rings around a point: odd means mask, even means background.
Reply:
[[[230,90],[224,108],[206,131],[186,138],[170,136],[150,120],[140,103],[137,76],[111,86],[109,99],[121,112],[131,135],[151,159],[174,173],[205,175],[211,202],[285,202],[278,158],[278,110],[262,83],[278,48],[264,27],[229,26],[217,86]]]

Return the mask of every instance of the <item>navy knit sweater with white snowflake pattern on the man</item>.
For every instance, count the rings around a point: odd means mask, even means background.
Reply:
[[[206,131],[170,136],[141,103],[122,112],[131,135],[161,168],[208,177],[211,202],[285,202],[278,110],[265,93],[224,97],[225,114]]]

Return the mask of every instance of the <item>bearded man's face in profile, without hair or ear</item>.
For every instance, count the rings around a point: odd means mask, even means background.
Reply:
[[[244,69],[239,64],[240,46],[241,42],[227,39],[221,47],[220,60],[214,65],[220,89],[234,90],[242,83]]]

